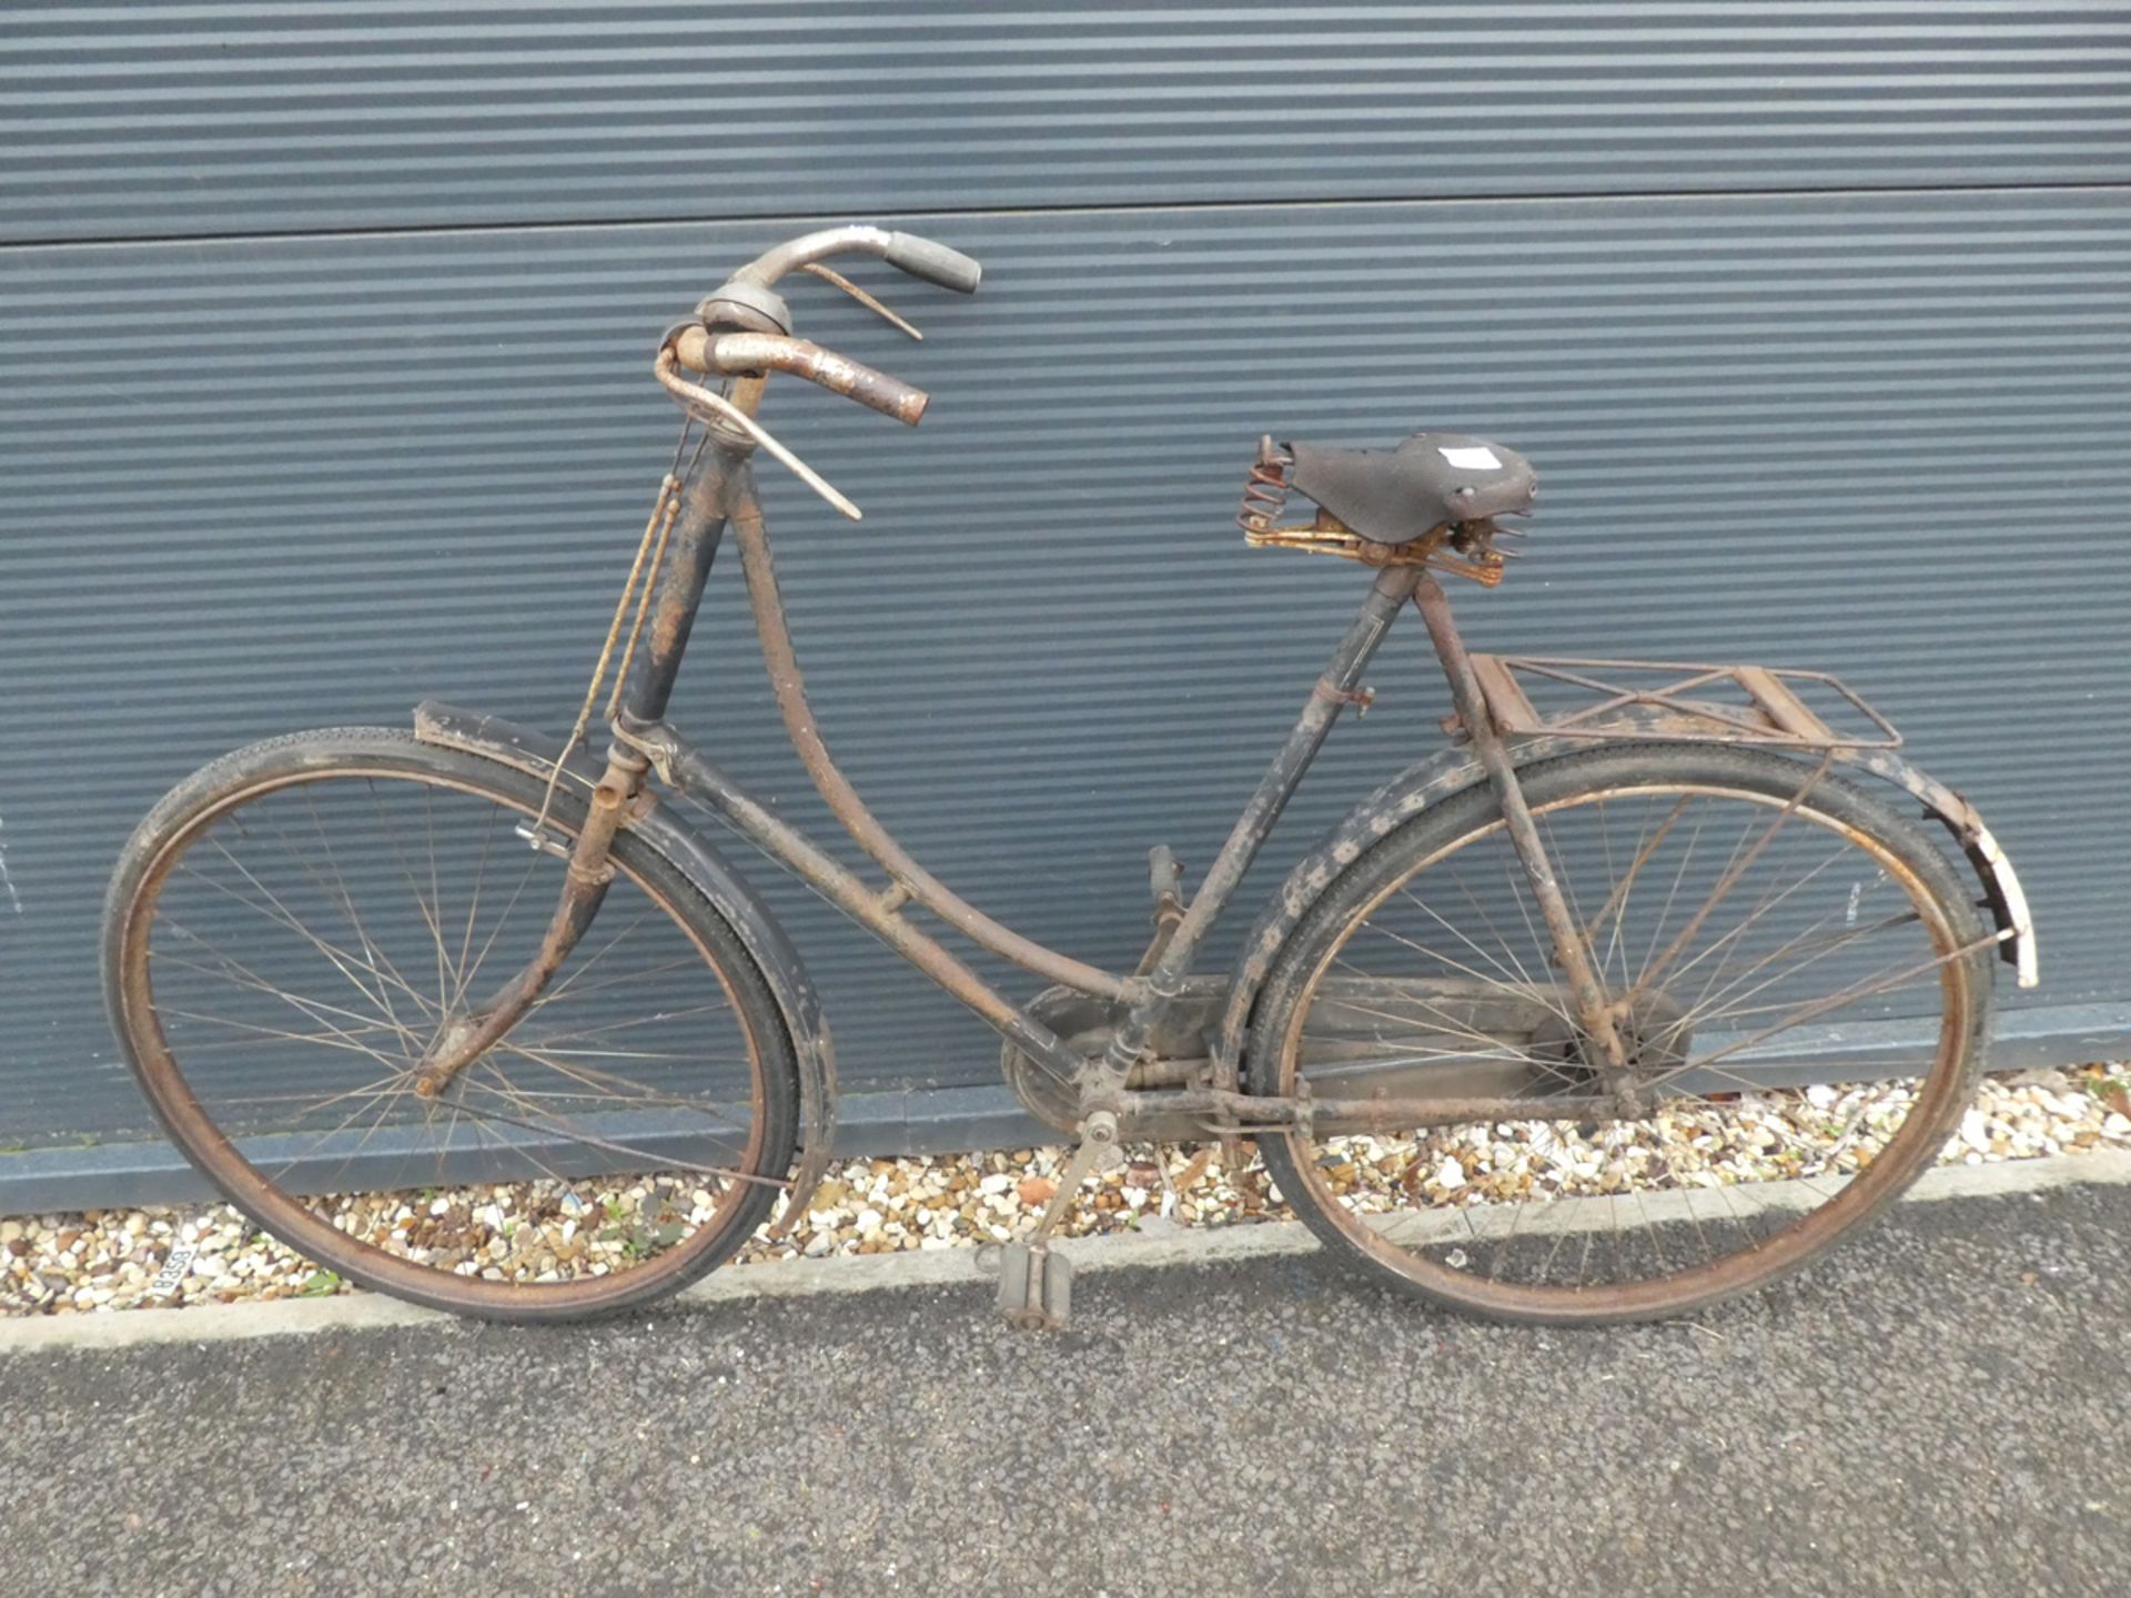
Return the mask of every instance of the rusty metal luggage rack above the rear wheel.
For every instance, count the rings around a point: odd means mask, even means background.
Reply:
[[[1901,748],[1894,724],[1826,671],[1475,654],[1473,675],[1504,737]]]

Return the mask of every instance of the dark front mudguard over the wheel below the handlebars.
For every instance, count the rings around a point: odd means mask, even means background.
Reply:
[[[424,744],[479,754],[484,761],[497,761],[541,780],[548,778],[556,754],[563,752],[558,737],[499,716],[439,705],[430,699],[413,710],[413,735]],[[575,752],[563,763],[563,782],[590,793],[599,782],[599,767]],[[814,993],[814,978],[808,976],[799,950],[791,946],[778,918],[769,914],[769,906],[727,865],[722,854],[703,842],[701,833],[658,803],[656,795],[650,790],[639,795],[624,827],[673,861],[712,910],[731,923],[784,1014],[784,1029],[791,1033],[793,1055],[799,1061],[799,1161],[791,1172],[784,1210],[771,1225],[771,1236],[782,1236],[806,1214],[808,1197],[820,1185],[823,1172],[829,1170],[835,1144],[835,1050],[829,1042],[820,997]]]

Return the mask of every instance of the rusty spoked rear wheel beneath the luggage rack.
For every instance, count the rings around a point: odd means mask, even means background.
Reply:
[[[1969,1102],[1975,906],[1916,822],[1760,750],[1613,746],[1519,780],[1626,1059],[1583,1036],[1468,788],[1362,854],[1268,976],[1249,1089],[1323,1121],[1262,1138],[1281,1193],[1377,1276],[1502,1319],[1677,1315],[1796,1270]]]

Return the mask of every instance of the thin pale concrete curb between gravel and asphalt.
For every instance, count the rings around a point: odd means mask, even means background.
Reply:
[[[2078,1185],[2131,1185],[2131,1151],[2101,1148],[2056,1159],[2005,1159],[1984,1165],[1941,1165],[1926,1172],[1903,1204],[1963,1197],[2010,1197]],[[1532,1223],[1526,1223],[1532,1229]],[[1068,1238],[1057,1244],[1076,1272],[1213,1266],[1230,1259],[1300,1255],[1317,1246],[1300,1221],[1230,1227],[1181,1227],[1149,1221],[1138,1232]],[[921,1249],[895,1255],[771,1259],[712,1272],[676,1295],[678,1304],[725,1304],[752,1298],[876,1293],[918,1287],[989,1283],[978,1249]],[[239,1342],[245,1338],[367,1332],[392,1325],[462,1325],[458,1317],[401,1304],[381,1293],[283,1298],[209,1304],[190,1310],[115,1310],[107,1315],[0,1317],[0,1355],[49,1349],[139,1349],[160,1342]]]

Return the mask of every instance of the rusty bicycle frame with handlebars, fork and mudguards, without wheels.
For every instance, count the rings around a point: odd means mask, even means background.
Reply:
[[[857,286],[820,266],[823,258],[840,251],[886,256],[914,275],[963,292],[976,286],[974,262],[940,245],[906,234],[886,234],[878,228],[831,228],[771,249],[705,298],[697,320],[667,332],[654,373],[661,386],[680,401],[693,424],[703,428],[703,441],[688,467],[678,460],[678,475],[667,477],[654,509],[654,528],[648,531],[646,545],[652,554],[631,631],[631,648],[637,643],[637,633],[644,633],[644,648],[631,656],[627,675],[609,705],[612,741],[603,763],[595,767],[571,761],[567,746],[556,746],[552,739],[492,718],[445,705],[422,705],[418,712],[418,735],[424,739],[479,750],[550,776],[550,780],[567,771],[573,784],[588,786],[586,822],[573,842],[550,837],[537,827],[531,831],[531,842],[537,848],[565,854],[569,861],[565,886],[537,955],[484,1001],[445,1027],[422,1061],[418,1093],[437,1095],[458,1070],[509,1033],[526,1014],[599,914],[614,876],[609,850],[622,827],[663,829],[669,844],[684,846],[684,852],[693,848],[697,859],[712,861],[705,865],[705,880],[712,888],[725,884],[729,893],[733,891],[729,874],[714,865],[707,848],[688,835],[684,822],[665,816],[656,805],[650,793],[650,780],[656,778],[712,810],[982,1016],[1004,1036],[1008,1050],[1027,1061],[1042,1078],[1042,1091],[1057,1106],[1055,1119],[1070,1121],[1080,1144],[1057,1187],[1057,1197],[1034,1234],[1034,1253],[1021,1255],[1008,1268],[1010,1281],[1002,1302],[1012,1300],[1010,1312],[1025,1312],[1031,1321],[1048,1323],[1055,1319],[1053,1291],[1044,1287],[1044,1240],[1080,1176],[1123,1138],[1146,1136],[1151,1129],[1164,1129],[1164,1136],[1187,1136],[1189,1131],[1242,1136],[1276,1127],[1300,1127],[1317,1136],[1389,1125],[1515,1119],[1530,1110],[1528,1099],[1402,1099],[1383,1095],[1336,1099],[1242,1091],[1238,1059],[1251,997],[1270,967],[1279,942],[1296,925],[1313,891],[1321,888],[1336,869],[1340,861],[1338,837],[1306,859],[1289,878],[1281,901],[1259,916],[1242,963],[1225,986],[1191,976],[1208,933],[1234,899],[1325,735],[1347,705],[1366,705],[1362,675],[1406,605],[1421,614],[1434,656],[1449,684],[1453,718],[1447,727],[1453,729],[1458,744],[1447,763],[1438,763],[1434,769],[1424,767],[1415,780],[1381,790],[1372,801],[1374,814],[1396,816],[1402,814],[1402,808],[1413,810],[1417,803],[1426,803],[1428,795],[1473,782],[1485,782],[1494,790],[1553,944],[1573,1016],[1594,1046],[1594,1085],[1600,1091],[1549,1099],[1549,1114],[1613,1116],[1637,1108],[1637,1091],[1617,1036],[1617,1025],[1637,995],[1609,999],[1592,972],[1590,950],[1556,882],[1517,773],[1522,763],[1577,737],[1620,737],[1626,735],[1622,727],[1634,727],[1641,737],[1782,744],[1818,761],[1807,769],[1799,801],[1835,761],[1862,765],[1875,776],[1909,788],[1931,814],[1954,831],[1958,846],[1975,865],[1997,914],[1997,935],[1990,942],[1999,942],[2001,952],[2020,967],[2022,984],[2033,980],[2033,933],[2027,906],[2010,863],[1984,829],[1982,818],[1958,795],[1892,754],[1899,735],[1839,682],[1822,673],[1775,673],[1762,667],[1664,667],[1671,682],[1656,690],[1632,690],[1617,688],[1596,673],[1639,663],[1473,654],[1460,637],[1449,597],[1434,571],[1449,571],[1492,586],[1500,580],[1507,558],[1492,548],[1492,535],[1500,528],[1445,526],[1413,545],[1381,545],[1357,539],[1323,511],[1308,526],[1279,526],[1276,511],[1285,494],[1279,475],[1281,460],[1270,441],[1262,447],[1245,496],[1245,531],[1257,545],[1332,552],[1374,567],[1374,577],[1353,622],[1304,697],[1287,737],[1272,754],[1195,893],[1185,897],[1174,859],[1166,848],[1153,850],[1155,933],[1134,972],[1102,969],[999,925],[918,865],[835,765],[808,701],[806,678],[793,648],[784,597],[771,560],[752,467],[759,452],[791,467],[846,516],[857,516],[857,507],[757,422],[769,375],[782,371],[806,377],[906,424],[914,424],[927,403],[923,392],[884,373],[788,337],[788,311],[774,294],[771,283],[791,271],[823,277],[899,322]],[[908,324],[904,326],[908,330]],[[714,390],[693,381],[695,375],[720,377],[727,386]],[[784,731],[831,814],[884,871],[882,882],[867,882],[782,820],[710,756],[690,746],[667,716],[697,607],[727,535],[739,550],[754,631]],[[612,641],[609,637],[609,646]],[[1607,714],[1545,718],[1532,710],[1519,686],[1519,671],[1600,692],[1611,690],[1611,697],[1603,697],[1600,705]],[[1801,701],[1796,684],[1805,680],[1833,684],[1865,714],[1871,729],[1862,735],[1833,731]],[[1743,712],[1726,712],[1694,697],[1720,682],[1743,688],[1747,697]],[[1366,822],[1368,816],[1360,820]],[[1353,833],[1353,825],[1349,825],[1349,833]],[[1351,859],[1351,852],[1345,859]],[[712,897],[716,901],[718,893]],[[803,1061],[814,1061],[803,1082],[806,1138],[801,1168],[791,1180],[793,1200],[784,1210],[784,1223],[788,1223],[803,1210],[808,1193],[829,1161],[833,1078],[825,1029],[820,1029],[818,1010],[810,1010],[812,999],[803,978],[778,969],[788,957],[788,946],[782,944],[782,933],[774,925],[763,925],[763,916],[750,906],[752,901],[742,906],[750,914],[739,916],[739,929],[750,937],[754,952],[771,965],[771,982],[780,995],[797,991],[797,999],[786,997],[784,1001],[786,1018],[795,1023],[795,1042]],[[912,910],[929,912],[944,929],[1051,982],[1053,989],[1046,997],[1053,999],[1053,1006],[1048,1014],[1057,1014],[1055,997],[1059,993],[1080,995],[1097,1010],[1108,1012],[1115,1025],[1108,1027],[1102,1050],[1085,1053],[1068,1042],[1061,1029],[1046,1018],[1042,999],[1016,1004],[1002,995],[933,931],[918,925]],[[1210,1048],[1202,1055],[1185,1050],[1185,1057],[1178,1059],[1178,1050],[1159,1046],[1174,1033],[1181,1006],[1189,1008],[1193,1016],[1219,1016],[1217,1025],[1206,1029],[1213,1038]],[[1055,1287],[1055,1295],[1061,1298],[1063,1289]],[[1014,1308],[1023,1306],[1023,1300],[1025,1308]],[[1061,1308],[1057,1312],[1061,1315]]]

